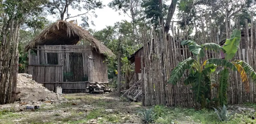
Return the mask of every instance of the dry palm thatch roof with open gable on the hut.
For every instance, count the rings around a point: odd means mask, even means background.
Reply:
[[[31,40],[25,51],[37,45],[75,45],[81,39],[88,41],[100,54],[113,56],[114,53],[93,37],[88,31],[71,22],[57,21]]]

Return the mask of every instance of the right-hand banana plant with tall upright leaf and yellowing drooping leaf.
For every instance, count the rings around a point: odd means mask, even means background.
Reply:
[[[230,70],[238,71],[238,73],[240,74],[240,78],[244,83],[245,91],[247,93],[250,91],[249,77],[252,79],[253,82],[256,82],[256,73],[249,64],[242,60],[231,61],[238,50],[240,39],[241,31],[234,30],[231,38],[226,39],[225,45],[223,45],[222,47],[222,50],[225,53],[225,59],[211,58],[204,62],[209,64],[215,64],[224,68],[220,71],[220,80],[217,93],[218,102],[216,106],[223,106],[227,104],[227,88],[229,85],[228,79]]]

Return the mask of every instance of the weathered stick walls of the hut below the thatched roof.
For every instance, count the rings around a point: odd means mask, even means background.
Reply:
[[[66,93],[86,92],[88,85],[81,82],[108,82],[105,56],[91,46],[44,45],[33,50],[37,53],[29,50],[28,74],[37,82],[52,82],[43,83],[49,90],[60,85]]]

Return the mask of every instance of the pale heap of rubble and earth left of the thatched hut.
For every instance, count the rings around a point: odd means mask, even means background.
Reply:
[[[33,81],[32,75],[29,74],[18,74],[16,94],[17,101],[14,104],[0,105],[0,109],[14,108],[20,111],[26,106],[34,107],[42,104],[50,106],[52,103],[59,104],[67,101],[62,95],[53,93],[42,84]]]

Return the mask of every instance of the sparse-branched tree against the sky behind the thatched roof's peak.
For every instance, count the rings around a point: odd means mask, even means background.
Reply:
[[[94,16],[97,17],[94,10],[102,9],[105,5],[102,4],[101,1],[98,0],[51,0],[48,3],[49,13],[52,15],[60,15],[60,20],[67,20],[70,18],[81,16],[83,23],[82,27],[89,27],[89,17]],[[81,12],[77,15],[71,15],[69,9],[78,10]],[[93,21],[91,24],[94,25]]]

